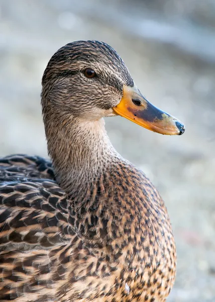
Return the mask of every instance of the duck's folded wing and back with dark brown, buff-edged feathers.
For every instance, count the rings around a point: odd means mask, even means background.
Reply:
[[[0,300],[50,301],[75,235],[65,193],[39,157],[0,159],[0,179]]]

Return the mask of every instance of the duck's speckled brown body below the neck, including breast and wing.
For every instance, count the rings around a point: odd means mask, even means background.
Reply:
[[[18,155],[0,167],[1,301],[165,301],[174,239],[141,171],[110,167],[72,204],[48,161]]]

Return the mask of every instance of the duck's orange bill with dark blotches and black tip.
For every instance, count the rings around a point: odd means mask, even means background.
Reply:
[[[123,87],[123,98],[114,112],[151,131],[180,135],[185,127],[178,119],[153,106],[136,87]]]

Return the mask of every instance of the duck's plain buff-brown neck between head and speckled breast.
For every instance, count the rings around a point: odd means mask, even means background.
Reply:
[[[85,121],[52,113],[44,114],[44,123],[57,183],[70,198],[85,194],[118,156],[104,120]]]

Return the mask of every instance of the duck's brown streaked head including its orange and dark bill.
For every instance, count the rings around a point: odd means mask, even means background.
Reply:
[[[76,41],[60,48],[42,85],[43,110],[91,121],[121,115],[161,134],[180,135],[185,129],[141,94],[120,55],[103,42]]]

